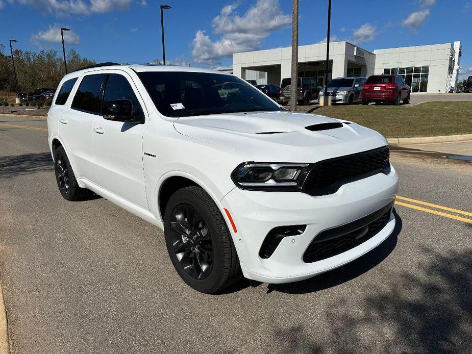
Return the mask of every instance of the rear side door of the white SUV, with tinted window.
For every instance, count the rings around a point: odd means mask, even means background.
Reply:
[[[90,181],[95,181],[93,121],[102,111],[106,77],[106,74],[84,74],[79,79],[80,84],[74,93],[70,108],[65,109],[59,117],[59,136],[72,161],[74,173],[76,177]]]

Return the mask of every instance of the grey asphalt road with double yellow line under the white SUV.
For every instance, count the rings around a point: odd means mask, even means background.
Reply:
[[[0,116],[13,353],[471,352],[471,163],[393,152],[399,195],[438,206],[399,199],[389,239],[308,281],[204,295],[179,279],[157,227],[60,196],[42,129]]]

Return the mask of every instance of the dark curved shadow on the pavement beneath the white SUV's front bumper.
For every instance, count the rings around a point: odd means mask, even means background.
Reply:
[[[367,272],[381,263],[390,255],[396,246],[398,235],[402,231],[402,219],[393,209],[395,216],[395,228],[392,234],[379,246],[367,252],[364,256],[357,260],[347,263],[346,265],[314,276],[310,279],[287,284],[269,284],[267,293],[279,291],[289,294],[305,294],[331,288],[333,286],[345,283],[355,277]]]

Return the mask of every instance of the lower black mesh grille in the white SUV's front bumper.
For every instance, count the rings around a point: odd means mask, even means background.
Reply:
[[[303,261],[311,263],[339,255],[374,237],[387,224],[392,204],[360,220],[321,232],[308,246]]]

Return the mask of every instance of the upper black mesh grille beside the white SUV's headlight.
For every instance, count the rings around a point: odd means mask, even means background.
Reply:
[[[332,194],[343,184],[380,172],[389,173],[389,155],[388,146],[383,146],[317,162],[308,173],[303,191],[311,195]]]

